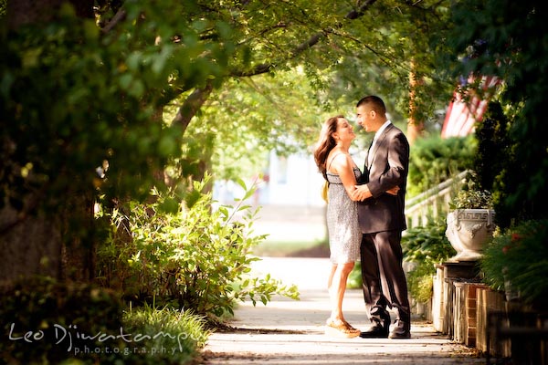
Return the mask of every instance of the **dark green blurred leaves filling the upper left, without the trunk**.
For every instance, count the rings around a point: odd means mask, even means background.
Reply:
[[[205,25],[197,23],[179,25],[186,47],[154,42],[151,31],[173,36],[174,18],[153,5],[129,2],[126,10],[120,31],[108,35],[68,5],[56,22],[1,34],[0,204],[54,213],[67,198],[92,200],[99,187],[111,198],[136,199],[162,187],[154,173],[180,154],[183,135],[181,125],[162,120],[170,90],[216,79],[231,43],[220,42],[228,36],[220,23],[211,25],[219,42],[198,43]]]

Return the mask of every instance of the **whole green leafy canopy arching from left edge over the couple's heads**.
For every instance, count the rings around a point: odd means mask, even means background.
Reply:
[[[282,137],[313,141],[325,109],[353,112],[369,92],[399,106],[397,119],[406,114],[410,70],[430,96],[422,104],[436,99],[427,91],[439,89],[430,39],[446,26],[447,8],[394,0],[99,1],[96,19],[64,5],[47,24],[6,27],[2,202],[26,214],[39,205],[24,203],[28,196],[49,206],[64,194],[142,197],[161,187],[163,168],[184,153],[186,166],[174,171],[192,174],[188,163],[209,156],[221,163],[220,151],[232,144],[235,156],[258,144],[292,149]],[[304,88],[282,73],[298,66]],[[266,74],[286,80],[250,81]],[[290,89],[280,94],[279,85]],[[242,118],[226,123],[240,107]],[[191,121],[199,125],[188,130]]]

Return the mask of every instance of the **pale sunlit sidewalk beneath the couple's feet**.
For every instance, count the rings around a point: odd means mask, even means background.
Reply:
[[[264,257],[253,267],[260,276],[270,273],[284,284],[296,284],[300,301],[275,297],[265,307],[250,302],[238,306],[229,323],[237,328],[216,332],[204,349],[204,363],[216,364],[483,364],[475,349],[456,344],[416,319],[411,339],[334,339],[323,334],[330,305],[325,283],[326,258]],[[345,318],[365,329],[361,290],[348,290]]]

